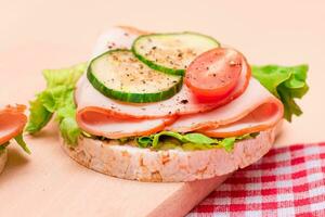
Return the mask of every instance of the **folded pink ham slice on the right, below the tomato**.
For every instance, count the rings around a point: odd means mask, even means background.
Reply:
[[[265,130],[275,126],[282,117],[282,102],[251,78],[246,91],[236,100],[211,112],[182,116],[167,129],[231,137]]]

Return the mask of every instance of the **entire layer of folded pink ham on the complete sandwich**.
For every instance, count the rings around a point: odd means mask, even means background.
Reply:
[[[145,33],[129,27],[112,28],[99,38],[93,55],[115,48],[130,49],[134,38],[142,34]],[[132,104],[106,98],[83,76],[75,91],[77,122],[83,130],[112,139],[150,135],[162,129],[202,131],[212,137],[265,130],[282,119],[283,104],[249,77],[250,72],[242,72],[231,97],[218,102],[198,101],[184,85],[168,100]]]

